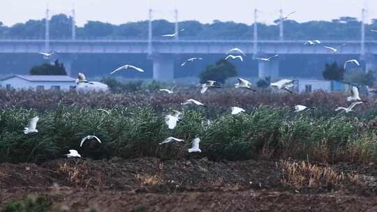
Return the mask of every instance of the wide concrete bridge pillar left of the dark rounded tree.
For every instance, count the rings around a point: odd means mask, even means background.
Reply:
[[[150,56],[153,61],[153,79],[172,81],[174,79],[174,59],[172,55],[155,54]]]

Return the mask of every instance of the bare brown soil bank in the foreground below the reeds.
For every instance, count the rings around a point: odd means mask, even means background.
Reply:
[[[377,211],[377,165],[332,166],[357,173],[355,185],[293,187],[279,162],[204,159],[61,159],[0,164],[0,209],[47,194],[68,211]]]

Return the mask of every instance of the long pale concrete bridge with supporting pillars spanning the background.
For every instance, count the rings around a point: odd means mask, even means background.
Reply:
[[[376,67],[377,41],[323,40],[320,45],[304,45],[304,40],[0,40],[0,54],[57,52],[59,60],[71,75],[71,64],[77,54],[145,54],[153,61],[153,76],[158,80],[174,77],[173,55],[224,54],[239,47],[255,56],[319,54],[359,55],[367,69]],[[48,45],[48,48],[46,48]],[[333,53],[324,45],[338,47]],[[279,58],[269,62],[258,61],[259,77],[279,77]]]

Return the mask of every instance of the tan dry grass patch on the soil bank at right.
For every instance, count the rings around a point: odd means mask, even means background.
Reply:
[[[344,174],[335,172],[332,167],[319,167],[310,162],[283,161],[280,164],[282,182],[294,187],[320,188],[332,185],[357,185],[359,179],[357,174]]]

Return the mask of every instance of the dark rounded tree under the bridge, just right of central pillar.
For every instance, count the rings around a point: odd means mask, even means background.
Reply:
[[[226,79],[235,76],[237,76],[236,66],[225,59],[221,59],[216,63],[207,66],[207,68],[200,73],[199,78],[200,83],[205,83],[207,80],[214,80],[224,84]]]

